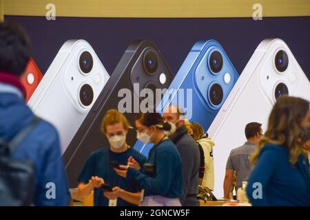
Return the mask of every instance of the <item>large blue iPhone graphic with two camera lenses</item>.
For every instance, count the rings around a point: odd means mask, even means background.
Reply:
[[[178,104],[183,107],[185,118],[198,122],[207,131],[238,76],[218,41],[198,41],[156,111],[162,113],[169,104]],[[147,156],[152,145],[138,140],[134,148]]]

